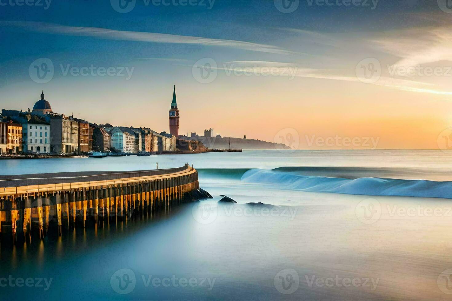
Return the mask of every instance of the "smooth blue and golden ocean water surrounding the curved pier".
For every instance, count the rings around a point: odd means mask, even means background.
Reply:
[[[157,162],[193,164],[214,199],[2,248],[1,299],[452,297],[452,157],[441,151],[0,160],[0,174]]]

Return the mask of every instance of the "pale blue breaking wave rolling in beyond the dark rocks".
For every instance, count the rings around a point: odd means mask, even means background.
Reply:
[[[241,177],[279,189],[341,194],[414,196],[452,199],[452,181],[402,180],[381,177],[329,177],[303,175],[303,168],[250,169]],[[311,167],[310,167],[311,168]],[[305,170],[306,172],[306,170]],[[328,173],[328,172],[327,172]]]

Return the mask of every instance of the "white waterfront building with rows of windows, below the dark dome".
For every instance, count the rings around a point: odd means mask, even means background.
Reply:
[[[22,123],[24,153],[50,153],[50,123],[37,115]]]

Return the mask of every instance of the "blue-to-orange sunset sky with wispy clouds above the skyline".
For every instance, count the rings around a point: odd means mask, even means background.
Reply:
[[[0,108],[299,149],[452,147],[447,0],[0,0]]]

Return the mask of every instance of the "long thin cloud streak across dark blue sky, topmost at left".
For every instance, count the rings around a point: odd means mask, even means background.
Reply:
[[[234,40],[212,39],[206,37],[180,36],[156,32],[135,32],[122,31],[107,28],[96,27],[76,27],[53,23],[26,22],[26,21],[0,21],[1,26],[11,26],[23,28],[32,32],[42,32],[49,34],[61,34],[67,36],[97,37],[108,40],[126,40],[151,43],[178,43],[178,44],[196,44],[205,46],[232,47],[250,51],[268,52],[282,55],[302,54],[296,51],[286,50],[277,46],[258,44],[252,42],[242,42]]]

